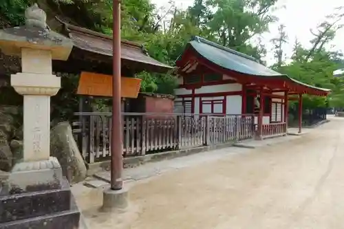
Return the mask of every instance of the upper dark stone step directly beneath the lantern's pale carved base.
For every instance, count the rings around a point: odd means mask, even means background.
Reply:
[[[71,208],[71,191],[66,179],[61,188],[0,196],[0,223],[39,217]]]

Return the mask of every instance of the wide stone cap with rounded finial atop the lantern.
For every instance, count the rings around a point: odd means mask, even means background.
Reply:
[[[49,50],[52,59],[66,61],[73,41],[50,30],[44,10],[34,3],[25,10],[25,25],[0,30],[0,49],[6,55],[21,56],[22,48]]]

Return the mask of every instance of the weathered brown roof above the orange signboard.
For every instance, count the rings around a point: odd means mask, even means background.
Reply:
[[[58,17],[56,17],[56,20],[63,25],[63,33],[72,39],[74,47],[86,52],[108,56],[112,59],[113,42],[111,36],[70,25]],[[120,52],[122,61],[140,63],[149,69],[153,69],[154,72],[168,72],[173,69],[173,67],[151,58],[142,45],[131,41],[121,41]]]

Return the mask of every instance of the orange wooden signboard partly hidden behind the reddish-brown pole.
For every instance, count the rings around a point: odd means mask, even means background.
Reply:
[[[120,95],[122,98],[138,98],[141,87],[139,78],[120,78]],[[112,96],[112,76],[92,72],[81,72],[78,84],[79,95]]]

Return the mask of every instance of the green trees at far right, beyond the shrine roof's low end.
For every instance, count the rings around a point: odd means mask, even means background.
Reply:
[[[336,8],[334,14],[326,17],[325,21],[320,23],[316,28],[316,32],[311,31],[314,38],[310,41],[312,47],[306,49],[295,41],[292,54],[292,62],[283,65],[281,61],[281,43],[284,42],[285,34],[281,27],[279,28],[279,38],[275,40],[275,57],[277,71],[288,74],[303,83],[331,89],[332,93],[328,98],[317,96],[303,96],[303,108],[312,109],[315,107],[344,107],[344,79],[334,78],[334,70],[341,67],[343,63],[343,54],[340,52],[330,52],[325,49],[331,41],[338,29],[343,25],[338,22],[343,18],[340,13],[341,8]]]

